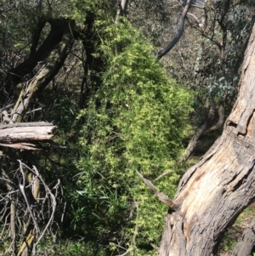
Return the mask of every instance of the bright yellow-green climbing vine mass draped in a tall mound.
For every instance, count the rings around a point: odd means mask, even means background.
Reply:
[[[192,97],[167,79],[150,44],[127,20],[113,25],[99,20],[97,26],[101,42],[95,56],[103,56],[107,68],[102,86],[77,117],[78,193],[89,204],[90,212],[82,210],[94,235],[117,233],[135,255],[150,255],[167,207],[154,199],[135,170],[156,179],[174,168]],[[178,179],[173,171],[156,185],[173,196]]]

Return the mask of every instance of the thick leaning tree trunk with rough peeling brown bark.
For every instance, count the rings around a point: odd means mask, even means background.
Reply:
[[[224,231],[255,199],[255,26],[246,49],[237,101],[223,135],[181,179],[168,213],[160,256],[218,251]]]

